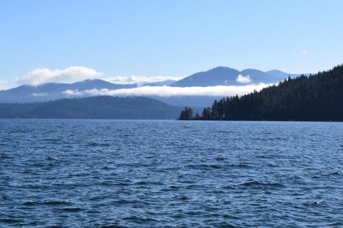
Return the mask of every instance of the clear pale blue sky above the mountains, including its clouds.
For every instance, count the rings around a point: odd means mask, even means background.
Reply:
[[[0,1],[0,89],[343,63],[343,1]]]

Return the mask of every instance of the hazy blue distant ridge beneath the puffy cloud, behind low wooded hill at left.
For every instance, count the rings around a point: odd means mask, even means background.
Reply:
[[[0,91],[0,103],[53,101],[66,98],[66,90],[92,90],[94,88],[116,90],[120,88],[134,88],[137,85],[117,85],[100,79],[88,79],[73,84],[47,83],[39,86],[19,86]]]

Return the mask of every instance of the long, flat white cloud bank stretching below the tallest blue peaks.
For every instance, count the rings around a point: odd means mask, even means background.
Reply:
[[[118,90],[66,90],[63,93],[69,96],[239,96],[261,90],[272,84],[250,84],[246,86],[206,86],[206,87],[173,87],[173,86],[141,86]]]

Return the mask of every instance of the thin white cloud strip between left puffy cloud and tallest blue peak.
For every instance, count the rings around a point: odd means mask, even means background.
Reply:
[[[185,76],[187,77],[187,76]],[[178,81],[185,77],[171,77],[171,76],[156,76],[156,77],[144,77],[144,76],[128,76],[128,77],[107,77],[104,80],[112,82],[114,84],[144,84],[144,83],[152,83],[157,81]]]

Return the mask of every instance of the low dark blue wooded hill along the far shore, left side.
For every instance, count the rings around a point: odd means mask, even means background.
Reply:
[[[0,118],[176,119],[180,109],[146,97],[87,97],[0,103]]]

